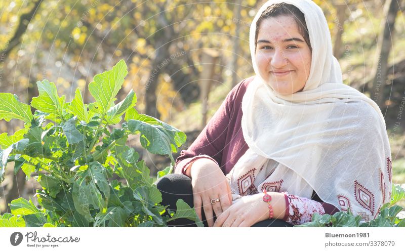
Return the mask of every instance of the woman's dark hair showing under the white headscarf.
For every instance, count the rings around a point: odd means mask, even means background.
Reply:
[[[304,37],[309,49],[312,51],[311,43],[309,41],[309,33],[307,24],[305,22],[304,13],[300,11],[294,5],[289,5],[286,3],[273,4],[269,6],[260,16],[256,23],[256,34],[255,34],[255,51],[257,47],[257,36],[259,34],[259,27],[263,20],[267,18],[274,18],[279,16],[293,17],[295,23],[298,26],[298,32]]]

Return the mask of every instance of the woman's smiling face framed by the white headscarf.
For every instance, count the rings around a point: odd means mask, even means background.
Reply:
[[[294,18],[264,19],[256,42],[255,60],[266,83],[281,95],[301,91],[311,68],[311,49]]]

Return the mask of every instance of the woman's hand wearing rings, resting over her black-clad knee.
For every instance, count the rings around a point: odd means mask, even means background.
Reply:
[[[190,171],[193,188],[194,208],[200,220],[201,205],[208,222],[214,225],[214,215],[218,217],[232,204],[232,194],[229,183],[218,164],[208,158],[200,158],[193,162]],[[211,199],[219,199],[215,204]]]

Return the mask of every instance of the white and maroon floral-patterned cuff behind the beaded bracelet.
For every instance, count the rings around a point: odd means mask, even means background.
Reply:
[[[290,211],[286,222],[293,225],[310,222],[314,213],[319,215],[325,214],[322,204],[315,200],[288,194],[288,201]]]

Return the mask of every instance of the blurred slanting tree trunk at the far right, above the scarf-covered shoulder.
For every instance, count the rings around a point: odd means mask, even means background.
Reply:
[[[382,21],[383,30],[378,38],[378,60],[374,67],[373,89],[371,90],[371,98],[380,108],[384,106],[384,86],[387,79],[388,56],[391,51],[395,18],[400,2],[401,0],[387,0],[384,5],[384,16],[386,18]]]

